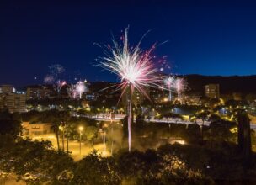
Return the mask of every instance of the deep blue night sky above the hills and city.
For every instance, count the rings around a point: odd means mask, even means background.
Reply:
[[[93,43],[120,38],[128,25],[131,44],[149,29],[142,48],[168,40],[154,53],[168,56],[165,73],[256,74],[253,3],[7,2],[0,3],[0,84],[41,83],[52,64],[66,68],[68,81],[115,82],[96,66],[103,50]]]

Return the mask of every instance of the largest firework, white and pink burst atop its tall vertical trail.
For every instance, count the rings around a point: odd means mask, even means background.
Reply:
[[[158,87],[157,82],[160,82],[160,77],[156,76],[157,70],[153,66],[151,56],[155,45],[152,45],[150,50],[144,52],[140,49],[141,41],[135,47],[130,47],[128,43],[128,29],[125,29],[125,36],[122,37],[120,44],[115,39],[112,41],[114,44],[113,48],[105,45],[106,50],[104,50],[104,54],[106,57],[101,58],[100,66],[115,73],[120,78],[120,85],[118,87],[122,90],[121,96],[127,90],[130,92],[128,145],[129,151],[131,151],[132,94],[137,89],[141,94],[149,98],[145,87]]]

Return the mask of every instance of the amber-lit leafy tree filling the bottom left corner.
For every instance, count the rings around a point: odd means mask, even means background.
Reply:
[[[72,158],[53,150],[50,141],[14,141],[2,136],[0,157],[0,171],[11,172],[29,184],[58,184],[59,174],[65,170],[72,172],[74,167]]]

